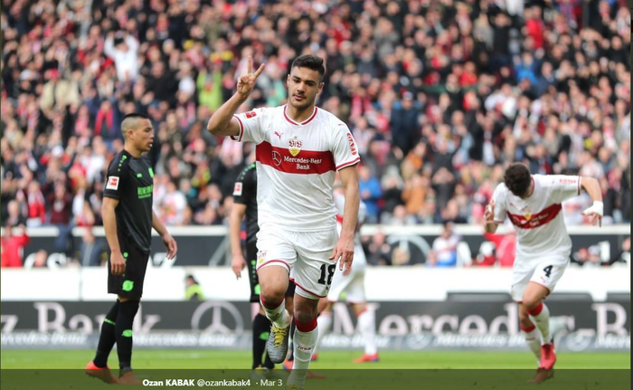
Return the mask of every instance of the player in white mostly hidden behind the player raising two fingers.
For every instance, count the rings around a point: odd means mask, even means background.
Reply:
[[[338,189],[335,189],[335,204],[338,214],[336,215],[336,221],[338,228],[343,226],[343,210],[345,209],[345,197],[340,194]],[[349,272],[335,271],[334,278],[332,278],[332,287],[327,294],[327,298],[319,302],[318,316],[318,340],[316,347],[319,346],[321,339],[326,336],[326,333],[332,327],[332,305],[339,300],[345,300],[352,305],[354,314],[358,319],[358,328],[361,331],[364,339],[364,354],[354,360],[354,363],[369,363],[377,362],[379,360],[378,350],[376,348],[375,341],[375,314],[373,310],[367,309],[367,300],[364,296],[364,271],[367,266],[367,259],[365,258],[363,246],[361,245],[360,228],[364,223],[366,216],[366,208],[361,201],[358,209],[358,224],[356,225],[356,234],[354,236],[354,267]],[[315,353],[312,356],[312,360],[316,360],[316,348]]]

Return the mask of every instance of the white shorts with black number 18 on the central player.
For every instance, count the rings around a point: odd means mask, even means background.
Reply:
[[[280,266],[288,270],[298,295],[318,300],[325,298],[336,269],[332,255],[336,228],[321,232],[293,232],[278,225],[262,225],[257,233],[257,270]]]

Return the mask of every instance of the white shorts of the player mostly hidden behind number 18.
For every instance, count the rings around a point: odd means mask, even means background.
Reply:
[[[356,245],[354,247],[354,262],[352,263],[352,271],[343,275],[343,271],[336,267],[334,279],[330,292],[327,294],[327,300],[330,302],[345,301],[348,303],[364,303],[364,271],[367,261],[364,256],[363,247]]]

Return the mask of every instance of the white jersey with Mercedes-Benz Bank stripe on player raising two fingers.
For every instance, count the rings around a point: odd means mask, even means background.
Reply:
[[[297,232],[334,229],[335,172],[360,161],[347,125],[315,107],[297,123],[286,106],[235,115],[237,141],[257,144],[257,204],[260,226],[278,224]]]

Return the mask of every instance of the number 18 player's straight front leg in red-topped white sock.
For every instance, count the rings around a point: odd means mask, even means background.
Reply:
[[[295,294],[294,361],[288,376],[288,388],[303,388],[307,369],[310,366],[312,352],[316,346],[318,329],[316,328],[318,300],[311,300]]]

